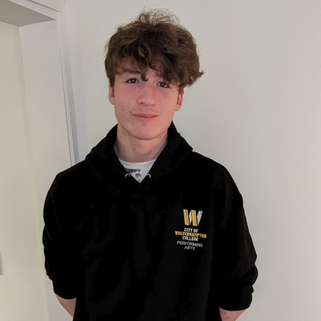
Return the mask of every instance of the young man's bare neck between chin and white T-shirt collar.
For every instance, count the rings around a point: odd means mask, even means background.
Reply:
[[[150,140],[128,137],[118,133],[114,150],[120,160],[128,163],[143,163],[156,159],[167,143],[167,131]]]

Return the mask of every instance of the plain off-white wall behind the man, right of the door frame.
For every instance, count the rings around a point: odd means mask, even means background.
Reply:
[[[151,5],[192,31],[205,71],[176,126],[244,196],[259,278],[240,320],[320,320],[320,1],[68,0],[81,159],[115,124],[104,43]]]

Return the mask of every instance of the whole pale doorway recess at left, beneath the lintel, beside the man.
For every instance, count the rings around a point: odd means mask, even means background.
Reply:
[[[71,164],[56,21],[0,22],[0,320],[70,321],[44,270],[44,199]]]

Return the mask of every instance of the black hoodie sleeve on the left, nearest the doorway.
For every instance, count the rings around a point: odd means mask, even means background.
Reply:
[[[81,283],[80,264],[65,224],[67,216],[63,208],[57,208],[54,195],[49,191],[44,206],[45,268],[54,292],[64,299],[73,299],[77,297]]]

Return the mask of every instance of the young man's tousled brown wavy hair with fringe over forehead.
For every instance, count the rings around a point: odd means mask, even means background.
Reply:
[[[179,91],[204,74],[199,68],[196,43],[191,33],[166,9],[141,12],[137,19],[119,25],[105,46],[105,69],[111,86],[124,61],[146,81],[148,68],[165,82],[177,82]]]

